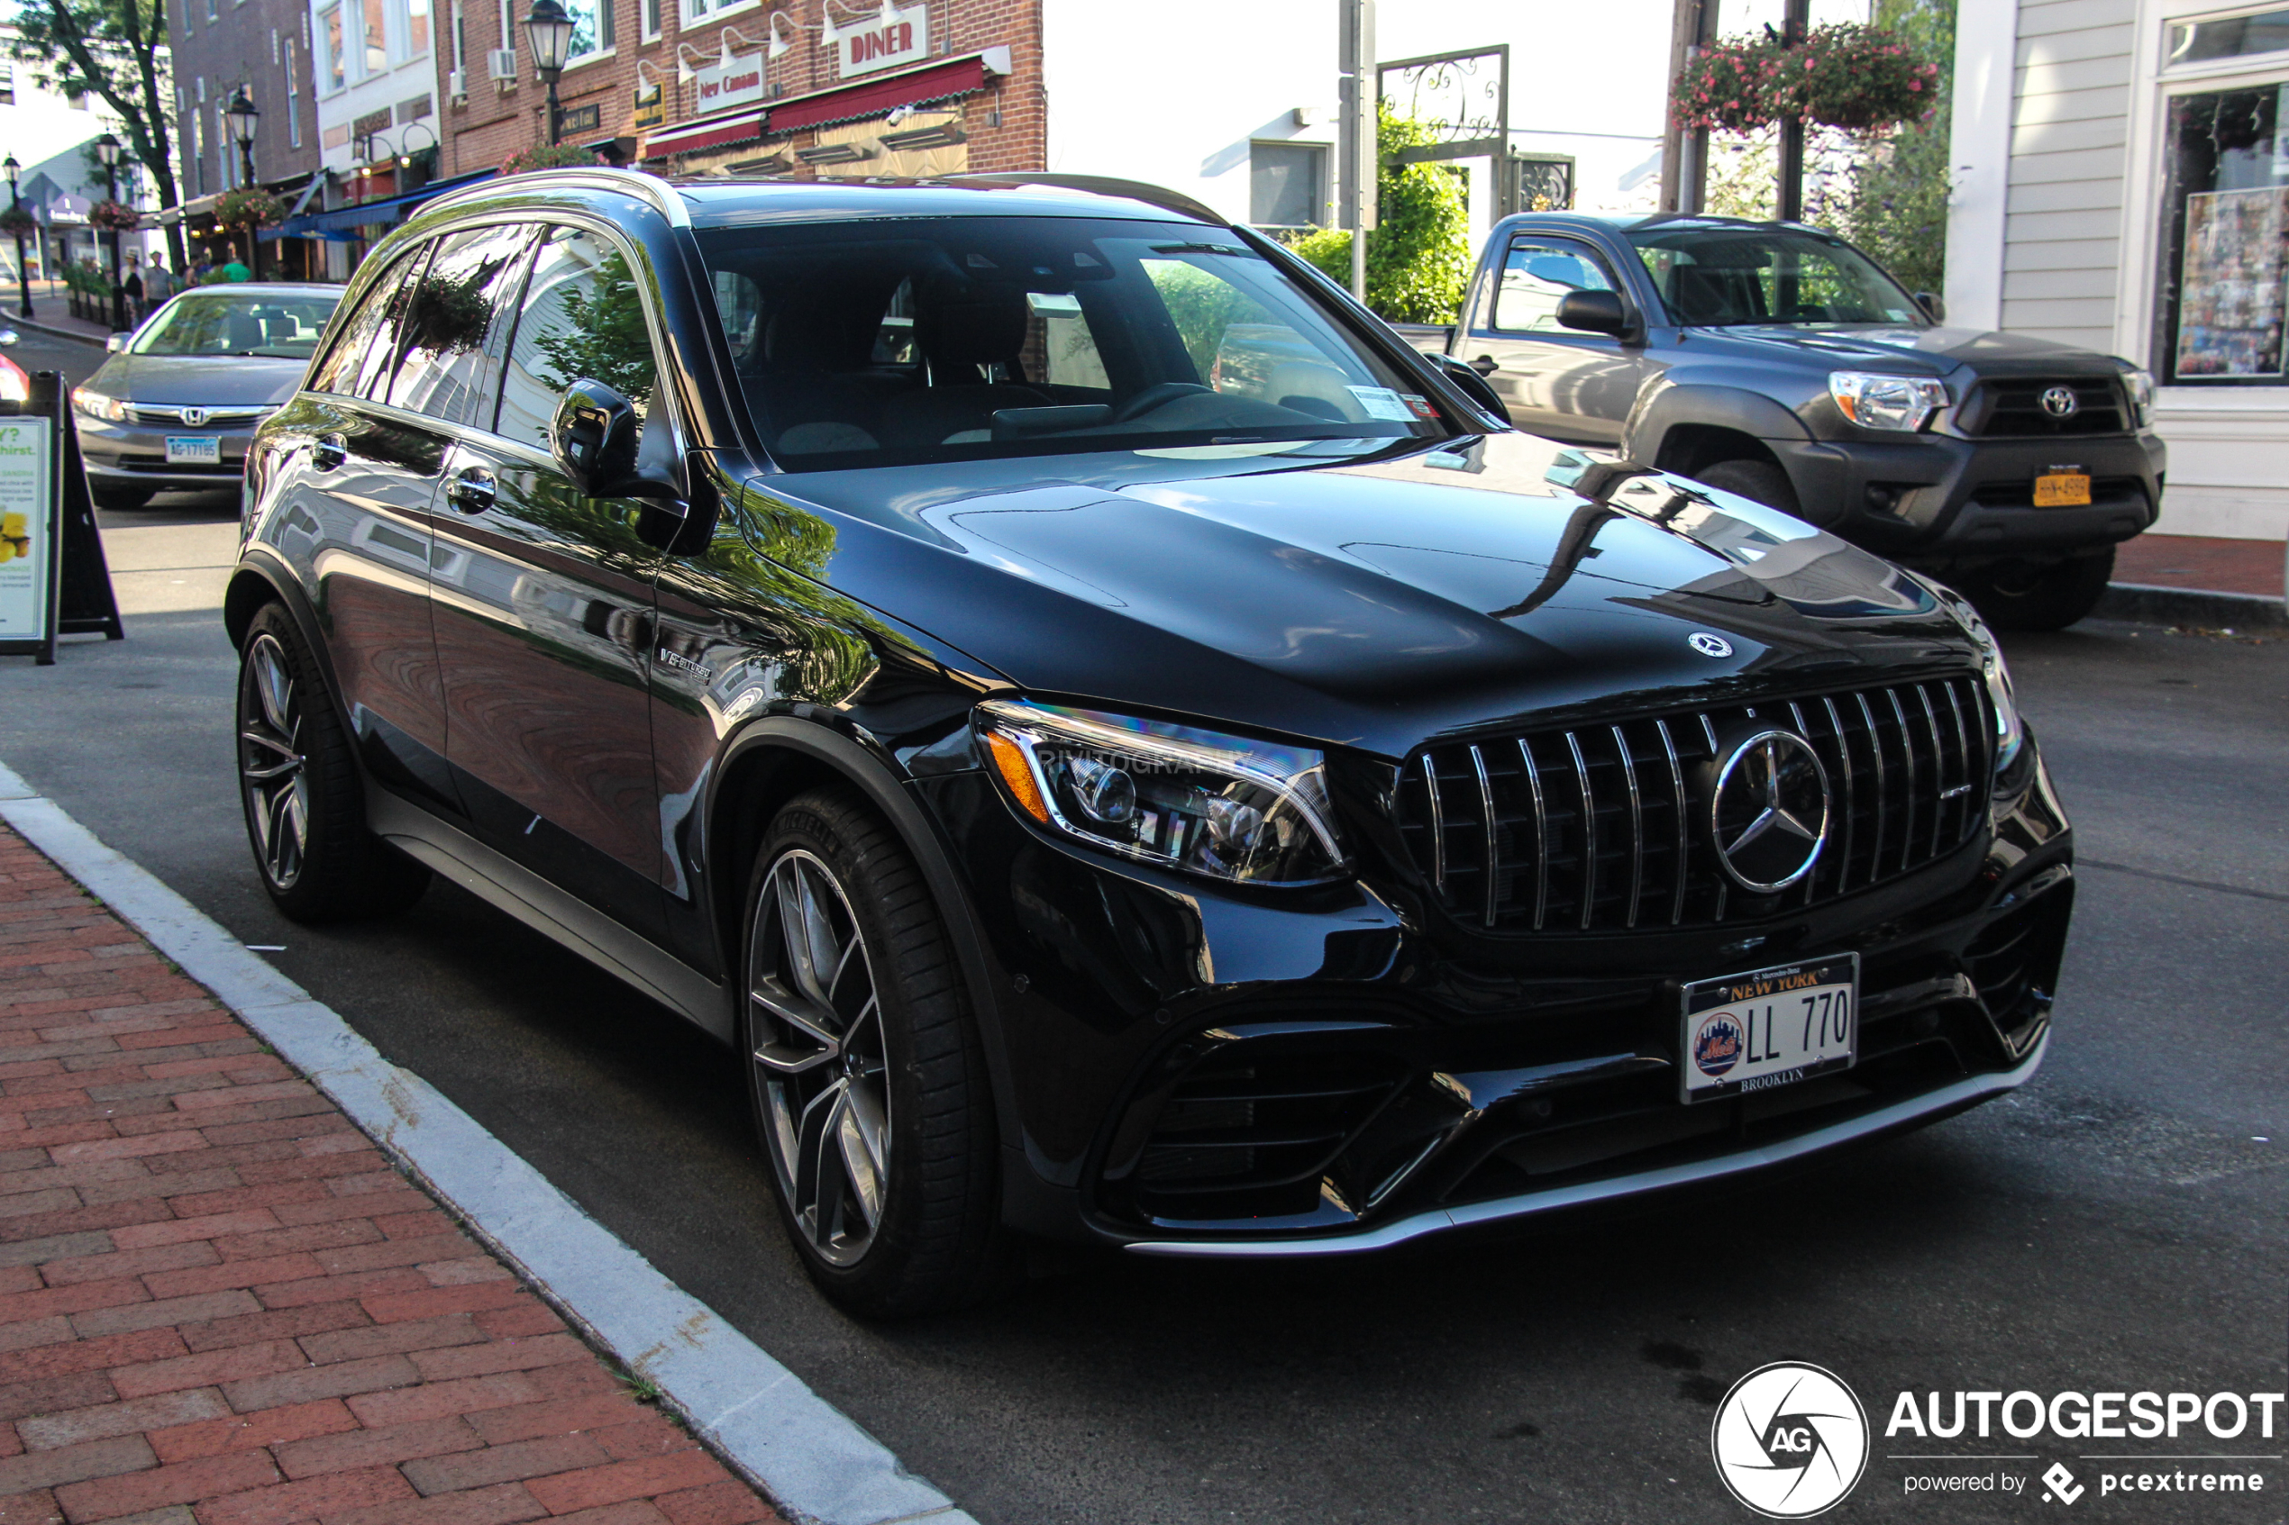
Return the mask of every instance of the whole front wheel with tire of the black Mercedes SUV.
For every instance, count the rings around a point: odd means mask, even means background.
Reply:
[[[819,1290],[888,1319],[1007,1283],[1014,1251],[968,988],[920,869],[852,793],[803,793],[771,821],[742,967],[755,1132]]]

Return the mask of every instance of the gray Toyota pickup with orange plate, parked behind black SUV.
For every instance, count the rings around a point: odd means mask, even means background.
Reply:
[[[2074,624],[2161,508],[2154,380],[1946,327],[1833,233],[1524,213],[1447,354],[1522,430],[1618,448],[1930,572],[1996,624]]]

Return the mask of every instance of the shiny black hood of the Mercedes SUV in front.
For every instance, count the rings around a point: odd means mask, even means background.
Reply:
[[[1044,457],[1060,478],[977,492],[945,469],[815,473],[753,494],[751,528],[1028,693],[1387,757],[1616,702],[1969,661],[1898,567],[1664,473],[1568,492],[1550,480],[1568,455],[1495,434],[1222,476]],[[909,471],[936,485],[900,498]],[[801,505],[824,537],[785,519]]]

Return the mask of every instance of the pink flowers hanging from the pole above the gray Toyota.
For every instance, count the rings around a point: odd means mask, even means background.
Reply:
[[[1687,130],[1751,133],[1804,117],[1868,133],[1923,121],[1936,103],[1936,62],[1898,32],[1845,23],[1795,48],[1772,34],[1712,46],[1678,75],[1673,114]]]

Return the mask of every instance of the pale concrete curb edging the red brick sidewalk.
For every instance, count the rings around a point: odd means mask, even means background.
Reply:
[[[595,1344],[803,1525],[977,1525],[515,1150],[0,764],[0,819],[330,1095]]]

